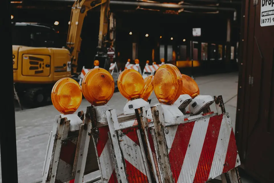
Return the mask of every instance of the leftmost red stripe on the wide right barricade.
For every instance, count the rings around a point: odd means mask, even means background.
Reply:
[[[169,162],[175,183],[178,181],[183,166],[194,123],[195,122],[193,121],[179,124],[172,142],[169,152]]]

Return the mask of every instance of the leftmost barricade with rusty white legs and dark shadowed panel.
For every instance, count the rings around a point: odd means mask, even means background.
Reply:
[[[99,169],[94,163],[97,158],[93,141],[89,141],[91,123],[83,123],[83,118],[83,111],[55,117],[42,170],[43,183],[63,183],[74,178],[78,183],[84,174]]]

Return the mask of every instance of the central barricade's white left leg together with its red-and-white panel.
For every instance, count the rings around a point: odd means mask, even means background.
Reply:
[[[113,152],[122,183],[152,182],[144,145],[138,126],[123,126],[118,122],[115,109],[106,111]],[[127,122],[124,123],[128,124]]]

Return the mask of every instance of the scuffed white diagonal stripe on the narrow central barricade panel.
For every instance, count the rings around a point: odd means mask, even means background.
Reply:
[[[146,176],[146,168],[144,166],[144,160],[142,158],[142,151],[140,146],[136,145],[135,142],[133,142],[126,135],[124,135],[122,139],[123,141],[120,143],[124,159]]]

